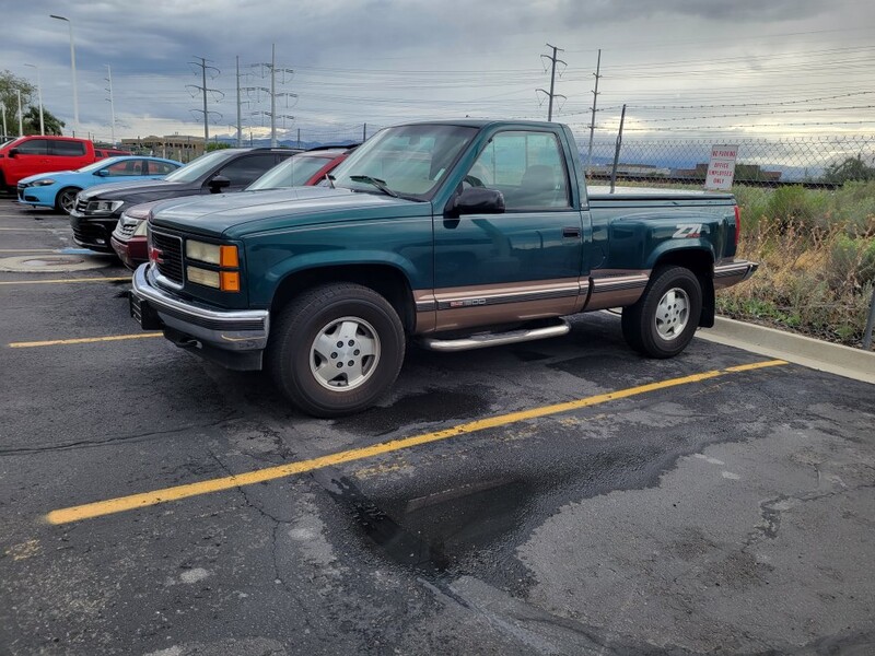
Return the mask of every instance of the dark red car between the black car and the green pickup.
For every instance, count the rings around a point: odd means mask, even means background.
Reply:
[[[287,189],[317,185],[355,149],[354,145],[315,148],[277,164],[244,191]],[[162,202],[144,202],[125,210],[109,242],[119,259],[129,269],[149,260],[145,247],[145,219]]]

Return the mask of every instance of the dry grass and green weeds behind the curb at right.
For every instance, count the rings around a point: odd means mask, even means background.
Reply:
[[[760,268],[719,294],[718,312],[860,347],[875,286],[875,184],[735,191],[738,257]]]

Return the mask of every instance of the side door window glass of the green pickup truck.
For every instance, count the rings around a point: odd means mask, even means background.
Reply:
[[[571,207],[565,161],[551,132],[499,132],[468,172],[469,185],[502,191],[508,211]]]

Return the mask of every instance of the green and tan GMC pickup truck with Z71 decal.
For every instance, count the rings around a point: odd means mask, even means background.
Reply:
[[[731,195],[586,189],[571,130],[416,122],[320,187],[184,198],[149,218],[131,314],[317,417],[372,406],[408,338],[460,351],[564,335],[622,307],[630,347],[676,355],[747,279]]]

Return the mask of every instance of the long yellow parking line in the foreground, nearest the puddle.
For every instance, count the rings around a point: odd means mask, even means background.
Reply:
[[[541,408],[532,408],[529,410],[522,410],[520,412],[510,412],[508,414],[500,414],[488,419],[481,419],[469,423],[459,424],[443,431],[435,431],[433,433],[424,433],[412,437],[404,437],[401,440],[393,440],[390,442],[382,442],[372,446],[362,448],[353,448],[345,452],[312,458],[310,460],[299,460],[296,462],[288,462],[277,467],[268,467],[245,473],[237,473],[223,478],[210,479],[197,483],[188,483],[185,485],[176,485],[173,488],[164,488],[163,490],[153,490],[152,492],[143,492],[140,494],[131,494],[129,496],[119,496],[106,501],[97,501],[94,503],[86,503],[79,506],[69,508],[61,508],[51,511],[45,516],[49,524],[68,524],[70,522],[79,522],[81,519],[91,519],[104,515],[112,515],[115,513],[122,513],[125,511],[132,511],[136,508],[143,508],[153,506],[168,501],[178,501],[188,496],[196,496],[199,494],[209,494],[211,492],[220,492],[222,490],[231,490],[242,485],[252,485],[261,483],[279,478],[285,478],[295,473],[304,473],[320,469],[323,467],[331,467],[342,465],[345,462],[352,462],[354,460],[362,460],[372,458],[383,454],[397,452],[422,444],[432,442],[440,442],[450,437],[457,437],[469,433],[476,433],[486,429],[494,429],[498,426],[505,426],[509,424],[526,421],[530,419],[538,419],[550,414],[558,414],[560,412],[569,412],[570,410],[580,410],[581,408],[588,408],[598,403],[606,403],[617,399],[625,399],[657,389],[666,389],[669,387],[677,387],[679,385],[689,385],[690,383],[699,383],[710,378],[718,378],[742,371],[750,371],[766,366],[778,366],[788,364],[783,360],[770,360],[766,362],[758,362],[750,365],[742,365],[740,367],[731,367],[722,371],[704,372],[701,374],[692,374],[680,378],[672,378],[668,380],[661,380],[658,383],[650,383],[648,385],[640,385],[638,387],[630,387],[611,391],[608,394],[599,394],[574,401],[564,403],[557,403],[553,406],[544,406]]]

